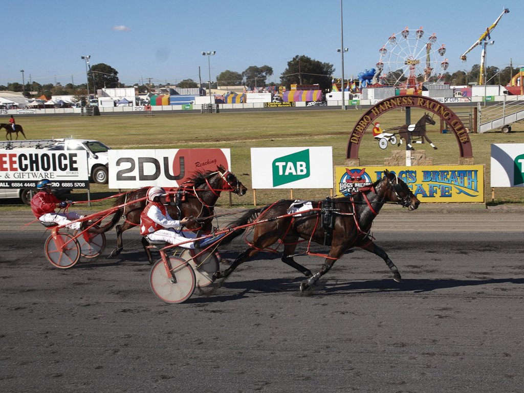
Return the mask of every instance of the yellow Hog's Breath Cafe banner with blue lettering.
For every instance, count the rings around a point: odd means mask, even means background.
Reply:
[[[384,166],[335,167],[336,196],[349,196],[384,176]],[[483,165],[387,167],[420,202],[484,202]]]

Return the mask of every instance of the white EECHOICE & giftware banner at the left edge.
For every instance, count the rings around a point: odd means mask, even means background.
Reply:
[[[53,188],[89,188],[86,151],[0,151],[0,188],[36,188],[42,179]]]

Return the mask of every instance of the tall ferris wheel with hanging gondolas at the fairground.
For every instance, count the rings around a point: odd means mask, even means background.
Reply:
[[[438,82],[449,65],[444,59],[444,45],[438,42],[435,33],[427,35],[422,27],[417,30],[406,27],[392,34],[379,53],[376,68],[381,72],[380,83],[385,85],[417,89],[422,83]]]

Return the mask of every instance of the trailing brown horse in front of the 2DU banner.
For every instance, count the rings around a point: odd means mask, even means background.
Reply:
[[[145,198],[148,190],[149,187],[144,187],[118,196],[115,206],[122,206],[115,211],[111,221],[101,226],[98,230],[90,230],[90,232],[95,233],[110,231],[122,216],[125,217],[123,224],[116,225],[117,247],[111,252],[110,257],[117,256],[124,249],[122,233],[140,225],[140,214],[146,207],[147,201]],[[212,230],[214,205],[222,191],[234,192],[239,196],[247,192],[247,188],[237,179],[235,174],[225,169],[222,165],[217,167],[217,170],[214,172],[196,172],[180,188],[166,188],[168,193],[170,190],[174,190],[174,193],[169,194],[170,203],[167,205],[169,215],[177,220],[193,216],[197,222],[188,225],[187,228],[192,231],[202,230],[203,232]],[[133,201],[137,202],[133,203]],[[198,220],[199,217],[204,218]],[[151,252],[146,247],[147,244],[143,242],[143,245],[149,263],[152,263]]]

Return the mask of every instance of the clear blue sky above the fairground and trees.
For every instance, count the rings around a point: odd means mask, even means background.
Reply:
[[[343,0],[346,78],[375,66],[392,33],[406,26],[424,27],[443,43],[448,71],[470,69],[481,58],[475,48],[463,63],[460,55],[503,11],[487,49],[487,65],[524,65],[524,2],[486,0],[369,1]],[[340,0],[63,0],[10,1],[2,4],[4,56],[0,84],[85,82],[85,62],[106,63],[125,84],[175,83],[211,79],[222,71],[242,72],[269,65],[279,82],[297,54],[334,65],[341,73]],[[10,26],[10,27],[9,27]]]

